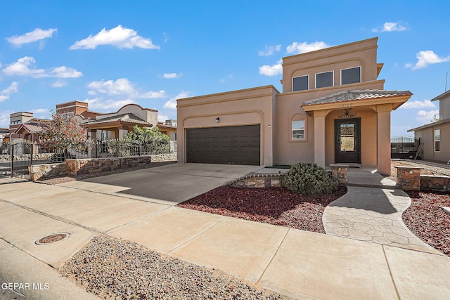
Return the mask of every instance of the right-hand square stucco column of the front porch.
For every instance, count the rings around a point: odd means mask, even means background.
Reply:
[[[391,174],[391,111],[392,104],[377,105],[377,169]]]

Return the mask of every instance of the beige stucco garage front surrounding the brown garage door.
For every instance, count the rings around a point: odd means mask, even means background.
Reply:
[[[261,86],[177,100],[178,161],[186,162],[186,129],[260,124],[261,164],[273,164],[277,94],[274,86]]]

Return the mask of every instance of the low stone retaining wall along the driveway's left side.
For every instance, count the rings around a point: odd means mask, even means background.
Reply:
[[[58,164],[35,164],[29,167],[30,180],[54,176],[77,176],[81,174],[93,174],[116,169],[137,167],[152,162],[176,162],[175,154],[144,155],[131,157],[108,157],[89,159],[67,159]]]

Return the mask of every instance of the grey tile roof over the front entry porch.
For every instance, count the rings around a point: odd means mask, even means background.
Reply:
[[[355,91],[341,91],[339,93],[332,93],[328,96],[308,100],[302,103],[302,106],[318,105],[326,103],[340,103],[351,100],[364,100],[374,98],[388,98],[397,96],[411,96],[410,91],[385,91],[385,90],[355,90]]]

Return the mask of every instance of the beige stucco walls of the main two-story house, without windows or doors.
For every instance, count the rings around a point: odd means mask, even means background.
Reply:
[[[382,67],[376,61],[377,40],[283,58],[283,93],[274,86],[262,86],[177,100],[179,162],[186,162],[186,129],[261,124],[262,165],[335,163],[334,120],[344,107],[330,103],[329,107],[318,105],[316,109],[313,105],[312,109],[305,107],[305,112],[302,103],[340,91],[383,90],[385,81],[377,79]],[[341,85],[340,71],[357,66],[361,67],[361,82]],[[334,86],[315,89],[315,74],[327,71],[334,72]],[[293,77],[305,74],[309,75],[309,90],[293,92]],[[389,101],[378,105],[376,100],[357,100],[352,105],[352,112],[361,118],[361,166],[378,167],[383,174],[390,173],[390,111],[399,105]],[[215,122],[217,117],[219,123]],[[297,120],[305,121],[304,140],[292,138],[292,122]]]

